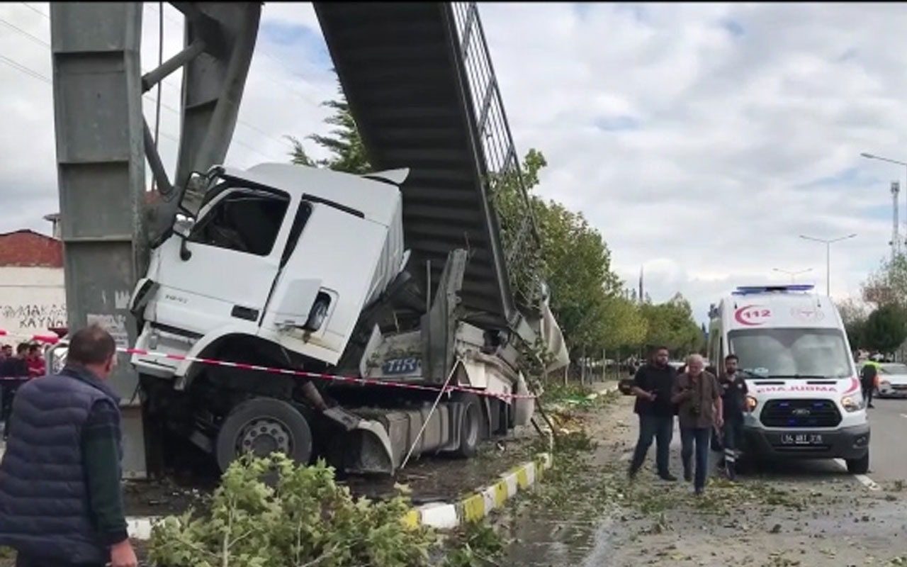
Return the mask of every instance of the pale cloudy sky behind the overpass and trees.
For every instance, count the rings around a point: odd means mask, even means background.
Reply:
[[[142,66],[158,57],[147,5]],[[706,317],[737,285],[813,271],[835,297],[889,253],[891,181],[907,161],[907,6],[898,4],[483,4],[518,151],[549,161],[541,195],[581,210],[613,267],[655,301],[680,291]],[[47,232],[58,209],[49,7],[0,4],[0,232]],[[164,58],[182,16],[165,5]],[[284,134],[325,132],[336,89],[311,5],[266,4],[228,161],[287,159]],[[161,95],[172,170],[180,76]],[[145,96],[153,123],[156,91]],[[170,107],[170,108],[168,108]],[[315,148],[311,153],[318,156]],[[907,201],[907,191],[901,202]],[[902,206],[902,220],[907,214]],[[902,229],[902,235],[905,234]]]

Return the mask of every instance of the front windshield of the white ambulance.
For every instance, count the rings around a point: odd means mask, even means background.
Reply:
[[[837,329],[759,328],[727,334],[739,366],[757,376],[853,376],[844,334]]]

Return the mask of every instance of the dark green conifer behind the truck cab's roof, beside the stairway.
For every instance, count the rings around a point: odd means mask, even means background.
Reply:
[[[290,161],[297,165],[324,167],[335,171],[346,171],[347,173],[363,174],[372,171],[372,165],[368,161],[366,153],[366,146],[359,135],[359,129],[356,126],[353,113],[349,110],[349,104],[346,103],[343,89],[339,89],[338,99],[325,101],[321,104],[334,110],[334,114],[327,117],[325,122],[336,126],[336,128],[330,132],[330,135],[311,134],[307,136],[307,139],[326,149],[330,152],[331,157],[314,161],[308,156],[302,142],[299,142],[293,136],[286,136],[293,144],[293,150],[289,153]]]

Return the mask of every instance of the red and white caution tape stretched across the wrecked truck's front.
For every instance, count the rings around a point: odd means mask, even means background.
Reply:
[[[35,342],[41,342],[45,344],[54,345],[60,342],[59,337],[49,336],[49,335],[15,335],[12,333],[7,333],[5,330],[0,329],[0,337],[28,337],[30,340]],[[324,374],[321,372],[307,372],[305,370],[293,370],[290,368],[277,368],[277,367],[263,367],[260,365],[246,364],[242,362],[229,362],[227,360],[216,360],[214,358],[201,358],[201,357],[187,357],[185,355],[173,355],[166,352],[157,352],[151,350],[143,350],[141,348],[125,348],[117,347],[119,352],[128,354],[128,355],[139,355],[141,357],[159,357],[159,358],[169,358],[171,360],[180,360],[180,361],[189,361],[189,362],[198,362],[200,364],[215,366],[215,367],[229,367],[229,368],[239,368],[242,370],[255,370],[258,372],[268,372],[270,374],[282,374],[284,376],[297,376],[305,378],[315,378],[318,380],[332,380],[334,382],[343,382],[346,384],[359,384],[363,386],[388,386],[402,388],[406,390],[422,390],[426,392],[438,392],[440,388],[432,386],[422,386],[419,384],[406,384],[404,382],[390,382],[385,380],[375,380],[374,378],[359,378],[355,376],[339,376],[336,374]],[[22,380],[24,377],[19,378],[2,378],[0,379],[15,379]],[[507,393],[498,393],[498,392],[488,392],[486,390],[479,390],[468,386],[446,386],[444,392],[450,394],[453,391],[460,392],[469,392],[477,396],[489,396],[495,397],[503,400],[512,400],[512,399],[533,399],[536,396],[532,394],[507,394]]]

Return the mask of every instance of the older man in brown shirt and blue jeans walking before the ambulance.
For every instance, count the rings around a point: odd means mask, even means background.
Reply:
[[[721,428],[723,408],[721,386],[715,375],[703,371],[706,367],[701,355],[690,355],[687,372],[678,376],[671,401],[679,404],[680,458],[683,460],[683,476],[687,482],[693,480],[690,459],[693,445],[696,445],[696,480],[693,486],[696,494],[706,488],[708,474],[708,446],[712,427]]]

